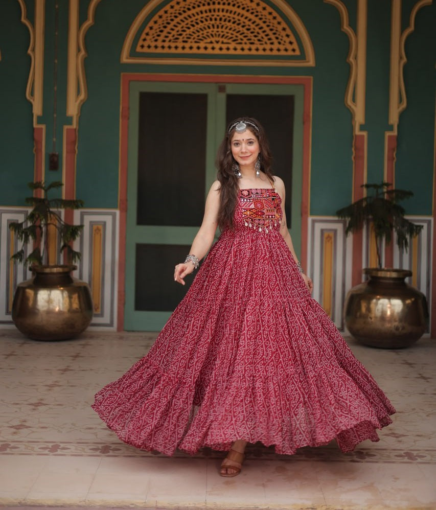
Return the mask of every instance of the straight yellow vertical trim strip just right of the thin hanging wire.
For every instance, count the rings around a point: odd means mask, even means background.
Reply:
[[[70,0],[68,12],[68,57],[66,78],[66,114],[73,117],[76,127],[77,46],[79,34],[79,0]]]

